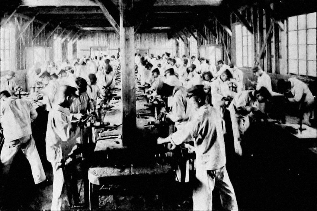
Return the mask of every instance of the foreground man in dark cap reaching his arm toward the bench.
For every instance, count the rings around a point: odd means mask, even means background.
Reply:
[[[212,191],[218,184],[221,203],[226,210],[238,210],[236,195],[226,170],[226,154],[218,109],[205,103],[203,86],[188,90],[197,111],[181,130],[167,138],[158,138],[158,144],[171,142],[180,145],[195,141],[196,180],[193,190],[193,210],[212,210]]]

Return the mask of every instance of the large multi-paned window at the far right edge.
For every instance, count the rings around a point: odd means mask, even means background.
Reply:
[[[316,13],[288,18],[288,73],[316,77]]]

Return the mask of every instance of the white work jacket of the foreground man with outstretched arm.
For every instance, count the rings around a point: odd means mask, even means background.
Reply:
[[[221,168],[226,164],[221,119],[218,109],[203,105],[181,130],[169,138],[176,145],[194,139],[196,165],[205,170]]]

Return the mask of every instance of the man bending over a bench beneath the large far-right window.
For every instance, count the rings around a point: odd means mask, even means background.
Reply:
[[[309,118],[311,111],[314,109],[313,104],[315,99],[307,84],[295,77],[290,77],[287,81],[280,79],[277,86],[289,102],[301,103],[301,110],[303,112],[302,123],[310,125]]]

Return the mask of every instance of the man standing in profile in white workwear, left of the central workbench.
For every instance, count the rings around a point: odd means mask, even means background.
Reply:
[[[62,163],[76,144],[79,127],[72,127],[69,107],[76,97],[76,88],[61,86],[57,90],[56,105],[49,112],[46,131],[46,157],[53,167],[53,197],[51,210],[61,210],[63,201],[64,175]],[[66,205],[69,206],[67,197]]]

